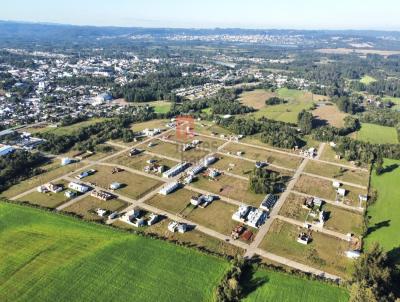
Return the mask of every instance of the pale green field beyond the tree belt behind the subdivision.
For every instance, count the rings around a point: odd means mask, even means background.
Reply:
[[[287,88],[278,89],[275,95],[288,102],[286,104],[265,106],[252,115],[256,118],[265,116],[273,120],[295,124],[297,123],[297,115],[300,111],[303,109],[309,110],[312,108],[314,102],[326,99],[326,97],[320,95],[313,96],[308,91]]]

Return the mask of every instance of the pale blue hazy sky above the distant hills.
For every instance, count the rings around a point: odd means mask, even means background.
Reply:
[[[400,30],[399,0],[0,0],[0,20],[97,26]]]

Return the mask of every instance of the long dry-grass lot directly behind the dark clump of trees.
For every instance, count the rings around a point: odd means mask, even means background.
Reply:
[[[286,155],[278,152],[268,151],[257,147],[249,147],[236,143],[229,143],[222,149],[225,152],[231,152],[236,155],[237,152],[244,152],[243,157],[267,161],[268,163],[282,166],[289,169],[295,169],[300,165],[301,158],[297,156]]]

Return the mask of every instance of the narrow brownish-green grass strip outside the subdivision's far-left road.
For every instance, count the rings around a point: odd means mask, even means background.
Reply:
[[[39,185],[43,185],[49,181],[52,181],[53,179],[58,178],[64,174],[73,172],[83,166],[84,166],[84,164],[82,164],[82,163],[74,163],[74,164],[71,164],[68,166],[61,167],[60,161],[56,159],[56,160],[51,161],[50,163],[47,163],[46,165],[43,165],[41,167],[43,173],[36,175],[34,177],[31,177],[29,179],[26,179],[24,181],[21,181],[20,183],[9,188],[8,190],[2,192],[0,196],[6,197],[6,198],[14,197],[25,191],[33,189],[34,187],[37,187]]]

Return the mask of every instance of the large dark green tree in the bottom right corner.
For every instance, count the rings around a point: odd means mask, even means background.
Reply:
[[[355,263],[350,302],[395,301],[392,276],[387,254],[379,244],[374,244]]]

